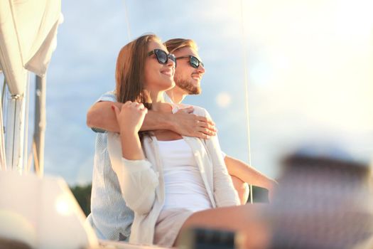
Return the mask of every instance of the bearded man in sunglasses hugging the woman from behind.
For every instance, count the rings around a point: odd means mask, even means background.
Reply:
[[[174,75],[176,86],[168,90],[165,95],[166,101],[180,103],[186,95],[200,94],[200,80],[205,73],[205,68],[198,56],[195,42],[188,39],[172,39],[165,45],[170,53],[175,54],[178,63]],[[116,102],[113,92],[108,92],[88,111],[87,125],[110,132],[119,132],[116,117],[111,110],[112,105],[120,108],[123,104]],[[175,114],[155,114],[150,110],[141,130],[171,129],[178,134],[202,139],[216,135],[212,120],[190,112],[193,112],[193,107],[180,110]],[[119,182],[111,168],[106,143],[106,133],[97,134],[92,181],[92,213],[88,216],[88,221],[99,238],[121,240],[129,237],[134,213],[121,197]],[[234,187],[242,203],[247,202],[249,194],[246,182],[272,189],[273,180],[242,161],[224,156],[228,172],[232,176]]]

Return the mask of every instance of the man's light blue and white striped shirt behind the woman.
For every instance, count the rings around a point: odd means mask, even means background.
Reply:
[[[99,101],[116,102],[117,98],[114,92],[106,92]],[[87,221],[99,239],[128,241],[131,234],[134,212],[121,196],[119,181],[107,152],[107,132],[99,132],[96,137],[91,213]]]

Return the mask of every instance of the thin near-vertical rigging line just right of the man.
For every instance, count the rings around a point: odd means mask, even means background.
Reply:
[[[244,63],[244,88],[245,88],[245,110],[246,110],[246,124],[247,124],[247,146],[248,146],[248,156],[249,156],[249,165],[252,166],[252,152],[250,147],[250,115],[249,115],[249,80],[247,78],[247,59],[246,59],[246,39],[244,32],[244,1],[241,0],[241,31],[242,31],[242,54],[243,54],[243,63]],[[253,203],[252,195],[252,184],[249,184],[250,187],[250,203]]]

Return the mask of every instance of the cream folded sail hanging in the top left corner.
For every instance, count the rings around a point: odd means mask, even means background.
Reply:
[[[12,95],[22,95],[26,70],[43,76],[63,20],[60,0],[0,1],[0,65]]]

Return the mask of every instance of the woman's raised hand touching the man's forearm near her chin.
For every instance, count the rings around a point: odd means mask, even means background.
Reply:
[[[121,134],[137,134],[148,109],[142,103],[127,101],[121,109],[112,105]]]

